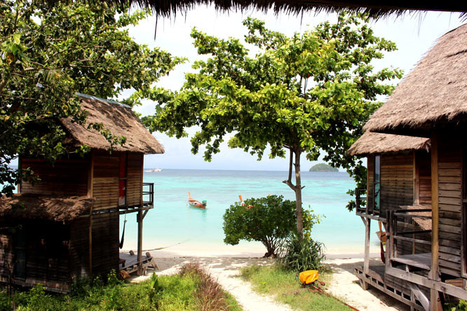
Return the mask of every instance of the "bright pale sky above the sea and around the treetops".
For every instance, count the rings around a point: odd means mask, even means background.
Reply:
[[[195,60],[201,59],[196,53],[196,48],[192,46],[190,32],[193,27],[201,31],[223,39],[235,37],[243,39],[245,27],[242,20],[247,18],[259,18],[266,22],[266,28],[292,35],[295,32],[304,32],[314,25],[325,20],[337,21],[337,15],[313,12],[304,13],[303,18],[296,15],[273,12],[262,13],[258,11],[246,12],[217,12],[208,6],[197,6],[186,14],[177,13],[175,18],[158,18],[156,38],[154,38],[156,18],[150,17],[140,22],[136,27],[129,27],[130,36],[133,36],[137,43],[147,44],[154,48],[160,47],[167,50],[174,56],[187,57],[188,62],[179,65],[169,76],[158,82],[159,86],[170,90],[179,90],[184,81],[184,73],[193,71],[191,64]],[[374,62],[375,69],[385,67],[399,68],[408,74],[411,69],[421,60],[426,52],[433,46],[435,41],[449,30],[455,29],[462,24],[459,15],[456,13],[430,12],[416,15],[405,15],[396,18],[395,16],[372,22],[370,25],[377,36],[384,37],[396,43],[398,50],[386,53],[383,60]],[[400,81],[393,81],[399,83]],[[127,96],[129,92],[124,93]],[[383,98],[383,100],[385,100]],[[154,113],[154,102],[144,102],[142,106],[135,107],[135,111],[143,116]],[[189,133],[196,132],[196,129],[189,130]],[[163,169],[201,169],[201,170],[287,170],[288,159],[269,159],[265,153],[263,160],[257,161],[256,156],[243,152],[241,149],[231,149],[226,142],[221,146],[221,152],[213,156],[210,163],[203,160],[203,150],[197,155],[191,153],[189,138],[175,139],[165,134],[155,132],[154,136],[163,144],[164,154],[146,155],[144,167]],[[322,158],[322,156],[320,157]],[[317,162],[310,162],[301,159],[302,170]]]

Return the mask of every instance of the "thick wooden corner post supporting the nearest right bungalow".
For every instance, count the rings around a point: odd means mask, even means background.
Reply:
[[[438,223],[439,223],[439,206],[438,206],[438,135],[434,132],[431,135],[431,271],[430,277],[433,280],[439,279],[438,273]],[[439,293],[435,289],[430,290],[430,307],[431,311],[439,311],[440,301]]]

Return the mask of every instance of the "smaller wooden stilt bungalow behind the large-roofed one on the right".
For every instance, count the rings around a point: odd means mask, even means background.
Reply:
[[[412,289],[405,282],[386,274],[384,263],[387,251],[393,249],[393,241],[386,239],[384,233],[382,236],[379,233],[380,238],[374,236],[381,245],[381,263],[370,265],[370,229],[372,220],[378,221],[381,231],[387,233],[391,225],[387,216],[389,211],[401,209],[400,213],[404,216],[407,213],[416,214],[419,217],[402,216],[392,223],[402,237],[402,240],[395,240],[394,249],[400,261],[405,256],[422,256],[429,252],[427,244],[414,244],[405,237],[430,240],[431,223],[424,219],[429,214],[426,211],[431,208],[430,139],[365,132],[351,146],[348,154],[367,157],[367,188],[356,189],[356,214],[365,224],[365,259],[363,267],[355,269],[360,284],[364,289],[374,286],[414,309],[423,310],[420,300],[412,295],[412,291],[426,296],[428,289],[421,286]],[[417,209],[417,212],[413,212],[413,209]]]

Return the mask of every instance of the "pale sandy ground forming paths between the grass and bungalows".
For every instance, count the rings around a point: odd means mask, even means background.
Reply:
[[[229,291],[243,306],[245,311],[288,311],[292,310],[287,305],[277,303],[271,296],[262,296],[252,290],[248,282],[238,277],[239,268],[246,265],[269,265],[272,259],[246,258],[245,254],[217,254],[211,256],[180,256],[180,253],[169,251],[151,252],[154,256],[159,270],[158,275],[170,275],[176,273],[184,263],[198,262],[205,267],[210,274],[217,279],[226,291]],[[219,256],[220,255],[220,256]],[[251,254],[250,254],[251,255]],[[353,275],[353,268],[363,265],[361,254],[331,254],[327,256],[326,263],[330,265],[334,274],[328,282],[327,291],[333,296],[343,300],[358,310],[410,310],[410,307],[400,303],[398,300],[384,295],[377,289],[364,291],[358,279]],[[378,259],[372,259],[377,261]],[[150,275],[134,277],[132,282],[140,282],[149,278]]]

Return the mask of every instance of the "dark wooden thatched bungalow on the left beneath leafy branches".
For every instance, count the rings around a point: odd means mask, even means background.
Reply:
[[[20,156],[18,166],[39,182],[22,182],[18,194],[0,198],[0,282],[67,292],[73,279],[141,271],[151,260],[142,255],[142,221],[154,207],[154,185],[143,183],[143,159],[163,148],[130,106],[79,96],[86,122],[102,123],[126,143],[110,152],[102,134],[66,119],[65,143],[89,146],[84,157],[70,153],[51,165]],[[133,212],[138,240],[130,263],[119,258],[119,216]]]

